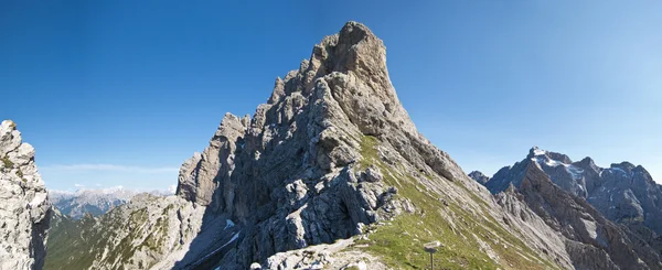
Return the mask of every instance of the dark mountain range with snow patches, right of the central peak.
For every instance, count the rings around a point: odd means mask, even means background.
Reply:
[[[662,186],[641,165],[621,162],[600,168],[591,158],[573,162],[563,153],[534,147],[524,160],[502,168],[492,177],[477,171],[469,176],[493,194],[523,195],[528,207],[567,238],[607,251],[610,258],[605,261],[620,268],[659,266]],[[630,248],[619,249],[619,245]]]

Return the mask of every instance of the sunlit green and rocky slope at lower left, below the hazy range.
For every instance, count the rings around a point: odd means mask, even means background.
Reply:
[[[44,269],[149,269],[174,264],[200,231],[204,207],[174,197],[139,194],[105,215],[74,220],[53,216]],[[156,268],[169,269],[169,267]]]

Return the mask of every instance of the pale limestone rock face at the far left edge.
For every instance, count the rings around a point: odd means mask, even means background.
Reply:
[[[34,148],[10,120],[0,125],[0,269],[41,269],[51,204]]]

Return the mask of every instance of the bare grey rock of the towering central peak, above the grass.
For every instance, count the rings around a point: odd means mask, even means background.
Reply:
[[[204,151],[182,165],[177,194],[252,228],[244,257],[227,260],[243,266],[412,210],[394,199],[385,169],[369,161],[470,183],[416,130],[388,78],[384,43],[349,22],[276,78],[252,118],[226,114]]]

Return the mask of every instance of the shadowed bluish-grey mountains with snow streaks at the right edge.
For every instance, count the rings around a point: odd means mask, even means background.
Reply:
[[[613,199],[618,194],[632,194],[631,187],[644,183],[651,188],[641,198],[654,204],[659,187],[653,187],[655,184],[642,168],[638,169],[639,174],[631,173],[628,177],[628,171],[621,166],[601,169],[589,158],[573,163],[564,154],[534,148],[523,161],[500,170],[485,186],[493,193],[516,187],[526,205],[564,235],[577,268],[659,269],[662,263],[654,223],[650,228],[643,226],[643,216],[650,215],[654,220],[659,209],[647,214],[631,210],[643,209],[638,207],[636,196],[630,196],[624,205]],[[610,198],[609,203],[605,198]],[[632,214],[623,213],[634,213],[640,218],[632,219]]]

